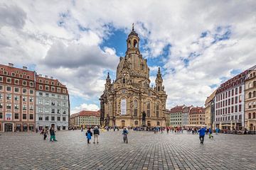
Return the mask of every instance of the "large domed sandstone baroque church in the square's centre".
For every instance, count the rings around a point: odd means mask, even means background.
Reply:
[[[132,27],[127,52],[119,58],[116,79],[107,74],[100,96],[100,123],[109,126],[165,126],[166,92],[160,68],[150,87],[149,67],[139,51],[139,36]]]

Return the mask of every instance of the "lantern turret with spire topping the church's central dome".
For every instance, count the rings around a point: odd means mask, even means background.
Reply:
[[[139,54],[139,37],[138,34],[134,30],[134,23],[132,23],[132,32],[129,33],[127,38],[127,52],[126,54]]]

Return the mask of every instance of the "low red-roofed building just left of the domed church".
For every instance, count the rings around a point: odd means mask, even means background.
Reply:
[[[80,111],[70,116],[72,128],[100,126],[100,111]]]

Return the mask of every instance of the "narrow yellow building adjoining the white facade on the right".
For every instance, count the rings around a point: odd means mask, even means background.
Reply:
[[[214,120],[214,114],[215,114],[215,105],[214,105],[214,98],[215,98],[216,90],[213,91],[213,94],[210,94],[210,96],[206,99],[206,126],[212,127],[213,126],[213,120]]]

